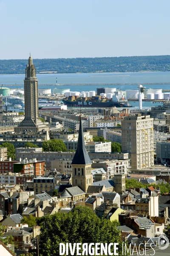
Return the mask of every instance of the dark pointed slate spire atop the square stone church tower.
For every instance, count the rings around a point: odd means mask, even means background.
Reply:
[[[71,164],[91,164],[91,159],[85,148],[85,140],[83,135],[81,116],[80,116],[79,138],[78,138],[77,150]]]

